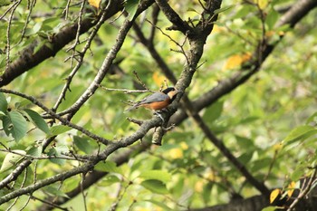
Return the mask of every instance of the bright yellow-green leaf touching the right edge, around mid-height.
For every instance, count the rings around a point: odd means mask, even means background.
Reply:
[[[284,142],[294,142],[298,139],[307,139],[317,133],[317,129],[309,125],[299,126],[293,129],[288,136],[283,139]]]

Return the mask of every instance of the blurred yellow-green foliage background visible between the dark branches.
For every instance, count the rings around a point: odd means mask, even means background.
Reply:
[[[265,1],[264,1],[265,2]],[[79,6],[71,7],[69,17],[63,20],[62,10],[67,2],[37,1],[33,14],[47,16],[32,17],[26,27],[21,42],[21,31],[29,13],[25,8],[28,2],[22,1],[14,13],[11,24],[10,42],[12,51],[10,60],[19,57],[19,52],[38,39],[41,44],[47,43],[47,37],[57,33],[76,21]],[[281,31],[274,29],[275,22],[282,14],[278,9],[292,4],[293,1],[270,1],[264,7],[266,14],[265,27],[270,42],[276,42],[276,36],[283,33],[284,38],[264,62],[260,72],[257,72],[248,82],[239,86],[216,101],[200,114],[206,120],[208,127],[217,137],[223,139],[226,147],[241,161],[254,177],[265,182],[270,188],[286,187],[290,181],[298,182],[303,176],[310,175],[311,168],[316,162],[316,66],[317,66],[317,27],[315,23],[316,11],[307,15],[294,29],[284,27]],[[201,12],[197,1],[169,1],[181,17],[190,17],[195,23]],[[216,86],[217,82],[241,71],[240,63],[231,63],[233,56],[242,56],[255,51],[255,43],[261,39],[261,19],[255,5],[244,4],[241,1],[224,1],[222,7],[230,6],[220,13],[215,29],[208,37],[202,65],[197,70],[192,84],[187,89],[190,99],[204,98],[204,93]],[[86,5],[86,7],[91,7]],[[7,7],[3,6],[3,12]],[[150,19],[152,8],[144,14]],[[197,12],[195,12],[197,11]],[[113,22],[103,24],[98,37],[91,44],[91,52],[86,53],[80,71],[72,81],[71,91],[65,96],[57,111],[67,109],[82,94],[92,82],[101,66],[106,54],[115,42],[118,27],[124,17],[116,14]],[[140,23],[142,20],[138,19]],[[150,24],[143,21],[142,31],[149,34]],[[184,41],[184,36],[174,31],[166,31],[170,26],[163,14],[159,14],[159,28],[178,43]],[[0,34],[6,34],[7,23],[0,24]],[[87,34],[80,39],[84,41]],[[164,84],[164,75],[158,64],[150,56],[148,50],[135,39],[136,34],[124,42],[116,58],[120,73],[110,73],[102,82],[102,86],[117,89],[135,89],[133,71],[149,89],[158,91]],[[0,39],[1,50],[5,52],[5,36]],[[76,46],[81,50],[85,43]],[[71,43],[69,44],[71,46]],[[166,35],[157,30],[155,47],[160,56],[174,74],[178,76],[183,70],[185,58],[178,50],[178,46]],[[72,71],[71,61],[65,62],[72,51],[67,48],[57,53],[53,58],[45,60],[14,82],[6,89],[19,91],[34,96],[48,108],[52,108],[57,100],[65,78]],[[187,50],[187,43],[185,45]],[[34,50],[36,51],[36,49]],[[5,53],[0,54],[0,68],[5,70]],[[231,68],[227,68],[231,65]],[[93,133],[106,139],[120,139],[128,136],[135,129],[136,124],[126,120],[127,117],[147,120],[151,117],[148,110],[135,110],[123,113],[127,108],[122,101],[138,101],[147,94],[125,94],[122,91],[105,91],[99,89],[76,113],[72,123],[81,125]],[[5,100],[8,107],[5,106]],[[59,156],[63,152],[72,151],[80,155],[95,152],[98,144],[82,135],[81,132],[70,128],[58,128],[57,125],[46,129],[43,119],[38,118],[36,124],[24,120],[23,110],[34,110],[43,114],[30,101],[14,95],[4,94],[1,97],[1,115],[15,112],[18,124],[15,126],[20,133],[18,138],[13,134],[1,131],[0,160],[4,163],[8,154],[5,149],[24,150],[28,155],[41,157],[43,139],[58,134],[54,144],[46,149],[44,156]],[[5,128],[4,119],[2,128]],[[14,118],[13,118],[14,121]],[[24,129],[23,129],[24,127]],[[41,128],[42,127],[42,128]],[[57,128],[56,128],[57,127]],[[21,137],[22,136],[22,137]],[[150,142],[148,134],[142,142]],[[135,143],[140,145],[141,142]],[[120,149],[124,152],[126,149]],[[115,156],[115,155],[114,155]],[[61,158],[39,159],[28,169],[26,180],[19,177],[14,188],[19,188],[67,171],[80,162]],[[4,179],[13,168],[2,172],[0,179]],[[188,207],[204,207],[227,203],[235,194],[252,197],[259,194],[255,187],[250,186],[245,177],[237,172],[232,164],[204,137],[195,122],[188,118],[181,125],[169,131],[164,137],[161,147],[152,146],[145,152],[136,152],[129,161],[117,167],[107,160],[95,169],[110,172],[106,177],[91,186],[87,193],[88,210],[105,210],[114,202],[118,202],[118,210],[181,210]],[[36,178],[34,177],[36,175]],[[58,184],[50,185],[33,193],[34,197],[49,196],[64,197],[65,193],[77,187],[81,177],[71,177]],[[10,189],[1,189],[0,197],[9,193]],[[14,206],[24,206],[27,196],[20,197]],[[5,204],[4,208],[10,203]],[[27,210],[35,210],[42,203],[33,200],[28,203]],[[83,210],[82,195],[70,200],[66,205],[73,210]]]

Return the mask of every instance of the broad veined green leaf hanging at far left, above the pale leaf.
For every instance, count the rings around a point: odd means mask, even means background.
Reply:
[[[12,110],[3,119],[5,134],[12,135],[15,141],[24,138],[27,132],[27,122],[21,113]]]

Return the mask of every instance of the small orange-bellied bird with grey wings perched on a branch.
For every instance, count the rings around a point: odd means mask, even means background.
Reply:
[[[175,100],[177,95],[177,89],[175,89],[174,87],[168,87],[163,91],[155,92],[146,97],[145,99],[136,102],[132,107],[125,111],[128,112],[130,110],[138,109],[139,107],[144,107],[150,110],[154,110],[154,113],[159,115],[159,113],[156,112],[156,110],[162,110],[167,108],[168,105]],[[160,115],[159,118],[162,119]]]

